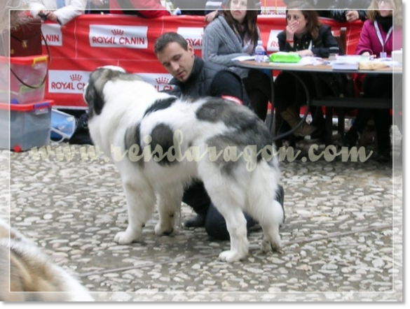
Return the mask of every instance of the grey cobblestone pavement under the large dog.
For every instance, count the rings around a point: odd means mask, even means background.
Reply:
[[[282,161],[282,254],[261,254],[256,230],[247,259],[228,264],[217,257],[229,242],[204,229],[154,236],[158,215],[146,224],[143,243],[114,243],[127,226],[120,177],[102,156],[81,159],[87,148],[51,145],[48,159],[1,150],[0,196],[7,205],[10,193],[13,227],[77,275],[95,299],[402,300],[401,168],[393,175],[392,164],[373,159]],[[191,214],[182,207],[182,220]]]

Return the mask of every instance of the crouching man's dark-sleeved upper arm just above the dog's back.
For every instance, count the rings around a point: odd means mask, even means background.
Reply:
[[[250,106],[245,94],[245,87],[242,85],[240,77],[229,71],[219,71],[212,80],[211,96],[233,96],[233,98],[242,101],[245,106]]]

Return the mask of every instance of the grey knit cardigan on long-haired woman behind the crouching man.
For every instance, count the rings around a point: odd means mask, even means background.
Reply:
[[[252,55],[254,51],[252,50]],[[205,28],[202,41],[202,57],[205,61],[228,66],[240,78],[245,78],[249,70],[233,66],[232,59],[238,56],[250,55],[242,51],[242,44],[238,36],[229,27],[225,17],[219,15]]]

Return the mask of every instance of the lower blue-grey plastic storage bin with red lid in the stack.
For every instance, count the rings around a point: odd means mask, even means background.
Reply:
[[[48,145],[53,105],[52,100],[25,104],[0,103],[0,130],[3,132],[8,131],[10,108],[10,143],[8,138],[2,138],[0,148],[19,152]]]

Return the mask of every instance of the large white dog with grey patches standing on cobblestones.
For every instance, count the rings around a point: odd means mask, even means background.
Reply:
[[[117,66],[93,71],[84,99],[90,136],[121,173],[128,227],[116,242],[140,240],[156,203],[155,233],[172,233],[184,187],[200,179],[231,237],[221,260],[247,255],[243,211],[261,224],[261,249],[280,250],[278,159],[268,129],[251,110],[214,97],[178,99]]]

